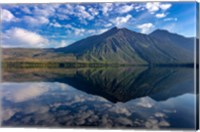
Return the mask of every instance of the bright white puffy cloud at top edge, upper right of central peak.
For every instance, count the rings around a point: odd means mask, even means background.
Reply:
[[[148,2],[146,3],[146,9],[149,11],[149,13],[154,14],[158,10],[167,10],[171,7],[171,4],[169,3],[160,3],[160,2]]]

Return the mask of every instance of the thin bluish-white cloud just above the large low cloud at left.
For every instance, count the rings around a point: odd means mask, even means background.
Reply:
[[[49,23],[49,19],[43,16],[38,16],[38,17],[25,16],[23,20],[31,26],[39,26],[42,24]]]

